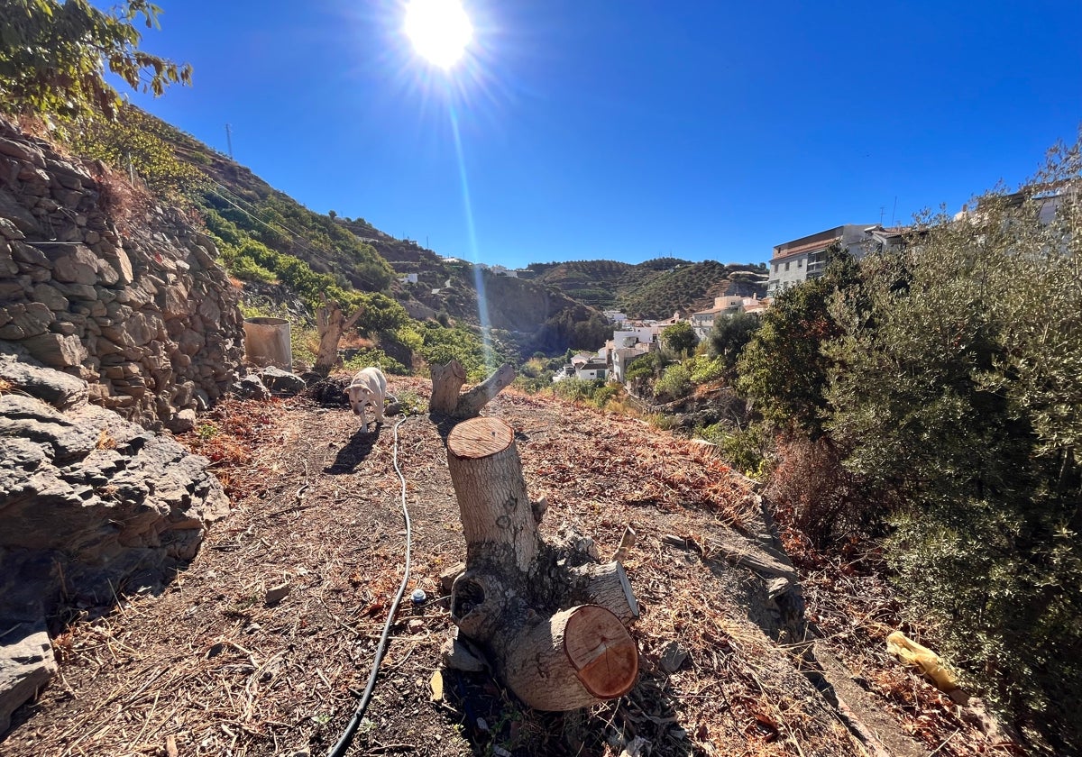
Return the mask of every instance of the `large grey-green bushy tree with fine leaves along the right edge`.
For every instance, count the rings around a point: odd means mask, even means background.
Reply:
[[[1064,184],[1079,161],[1054,155],[1038,199],[923,218],[908,252],[871,258],[831,304],[826,349],[824,428],[897,503],[880,517],[913,612],[1060,754],[1082,749],[1082,208]]]

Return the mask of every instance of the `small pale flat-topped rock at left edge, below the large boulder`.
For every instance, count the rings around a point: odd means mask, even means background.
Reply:
[[[32,699],[56,673],[44,617],[23,621],[0,636],[0,735],[11,726],[11,714]]]

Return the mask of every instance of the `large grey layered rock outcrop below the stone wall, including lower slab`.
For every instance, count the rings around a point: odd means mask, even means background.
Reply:
[[[228,500],[206,459],[88,404],[83,382],[10,357],[0,375],[19,390],[0,395],[2,733],[54,669],[43,619],[160,588]]]

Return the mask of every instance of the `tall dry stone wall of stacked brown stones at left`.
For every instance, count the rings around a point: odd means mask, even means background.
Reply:
[[[237,377],[239,293],[176,210],[121,231],[121,185],[0,119],[0,346],[144,427],[183,430]]]

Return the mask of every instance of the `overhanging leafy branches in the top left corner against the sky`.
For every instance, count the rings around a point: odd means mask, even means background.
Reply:
[[[108,13],[87,0],[0,0],[0,102],[16,112],[111,118],[121,101],[103,64],[133,90],[155,95],[192,83],[192,66],[138,49],[137,17],[153,28],[160,12],[146,0]]]

